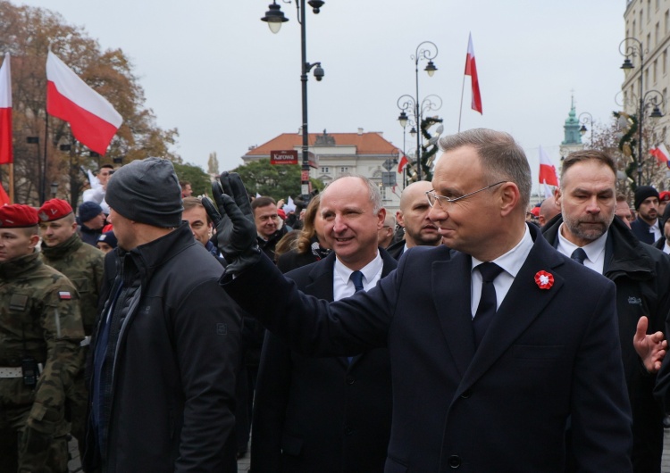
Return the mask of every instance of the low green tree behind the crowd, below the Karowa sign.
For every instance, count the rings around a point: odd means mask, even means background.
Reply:
[[[233,172],[239,173],[249,195],[267,195],[275,200],[301,195],[299,164],[272,165],[269,159],[262,159],[243,164]],[[313,188],[322,190],[322,181],[314,178],[310,181]]]

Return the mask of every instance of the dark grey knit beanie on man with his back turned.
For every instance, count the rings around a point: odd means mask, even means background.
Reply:
[[[172,162],[147,158],[126,164],[109,178],[105,201],[121,216],[154,227],[179,227],[181,187]]]

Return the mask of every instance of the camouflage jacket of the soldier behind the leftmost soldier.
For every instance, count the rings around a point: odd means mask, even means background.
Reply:
[[[80,294],[81,321],[91,335],[96,320],[97,299],[103,283],[105,253],[86,245],[76,233],[61,245],[42,245],[42,261],[62,272]]]

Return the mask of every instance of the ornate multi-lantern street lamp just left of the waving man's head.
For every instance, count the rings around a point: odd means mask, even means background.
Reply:
[[[400,126],[405,129],[407,118],[413,116],[416,124],[416,129],[413,128],[409,131],[409,134],[414,136],[416,135],[416,171],[418,180],[422,180],[422,163],[421,163],[421,125],[423,120],[423,114],[431,110],[439,110],[442,106],[442,99],[438,95],[428,95],[423,100],[419,98],[419,62],[427,61],[426,67],[423,71],[428,73],[428,77],[432,77],[435,71],[438,68],[435,66],[435,63],[432,62],[433,59],[438,55],[438,46],[435,46],[435,43],[431,41],[423,41],[419,46],[416,46],[415,54],[410,57],[415,62],[415,92],[416,95],[401,95],[398,98],[398,108],[402,111],[398,117]],[[407,114],[409,113],[409,115]],[[412,133],[412,130],[415,133]],[[404,132],[403,132],[404,137]],[[404,139],[404,138],[403,138]]]

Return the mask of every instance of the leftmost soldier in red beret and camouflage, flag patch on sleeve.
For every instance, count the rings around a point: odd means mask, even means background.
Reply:
[[[79,296],[39,258],[38,212],[0,207],[0,471],[66,472],[65,392],[80,369]]]

